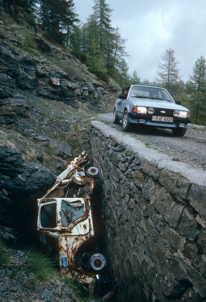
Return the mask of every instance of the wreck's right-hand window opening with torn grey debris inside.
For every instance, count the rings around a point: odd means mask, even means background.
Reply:
[[[75,200],[72,203],[61,201],[61,221],[63,227],[68,227],[71,222],[85,215],[84,203],[81,200]]]

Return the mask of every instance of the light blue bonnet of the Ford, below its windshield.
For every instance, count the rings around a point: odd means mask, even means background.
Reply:
[[[189,111],[186,107],[177,105],[175,103],[166,101],[166,100],[153,100],[153,99],[137,99],[130,98],[136,106],[146,106],[146,107],[156,107],[156,108],[165,108],[165,109],[174,109],[174,110],[183,110]]]

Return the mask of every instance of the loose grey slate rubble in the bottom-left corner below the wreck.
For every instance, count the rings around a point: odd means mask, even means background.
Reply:
[[[25,252],[8,249],[11,253],[8,264],[0,268],[1,302],[77,302],[72,290],[57,279],[47,282],[37,280],[27,272],[29,260]]]

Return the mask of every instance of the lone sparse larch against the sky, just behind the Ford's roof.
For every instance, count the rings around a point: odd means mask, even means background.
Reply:
[[[166,88],[170,93],[174,90],[175,83],[180,79],[178,61],[174,55],[174,49],[166,49],[161,55],[162,62],[159,62],[156,81]]]

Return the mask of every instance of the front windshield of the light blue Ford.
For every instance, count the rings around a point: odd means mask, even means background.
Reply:
[[[167,91],[160,87],[133,86],[130,97],[145,97],[148,99],[162,99],[173,102]]]

